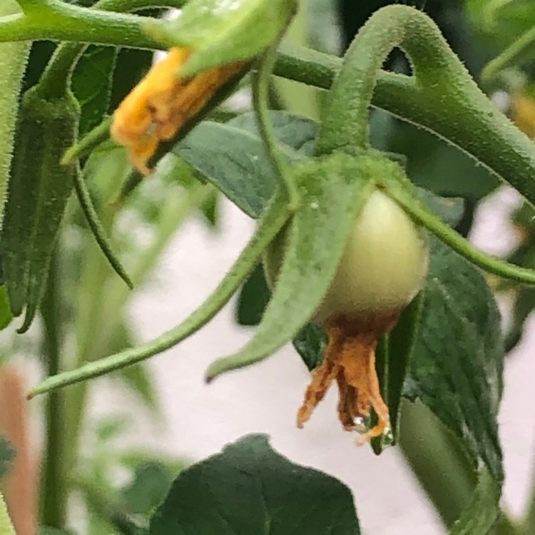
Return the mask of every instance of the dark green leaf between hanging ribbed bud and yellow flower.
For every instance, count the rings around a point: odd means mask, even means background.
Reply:
[[[117,49],[88,46],[73,72],[72,90],[81,106],[80,136],[102,121],[108,111]]]

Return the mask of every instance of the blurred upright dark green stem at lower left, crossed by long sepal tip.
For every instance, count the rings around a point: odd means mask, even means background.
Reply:
[[[58,253],[51,260],[46,292],[41,303],[44,324],[43,353],[46,373],[61,370],[61,307],[58,291]],[[62,529],[66,520],[66,484],[63,458],[63,392],[54,392],[46,401],[46,445],[41,481],[41,524]]]

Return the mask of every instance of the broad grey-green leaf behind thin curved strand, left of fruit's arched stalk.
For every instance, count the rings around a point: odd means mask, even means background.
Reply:
[[[317,123],[280,111],[270,112],[270,121],[290,161],[312,155]],[[173,148],[173,153],[252,218],[260,217],[277,188],[254,113],[225,124],[204,121]]]

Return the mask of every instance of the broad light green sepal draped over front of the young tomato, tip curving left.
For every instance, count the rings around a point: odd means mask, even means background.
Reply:
[[[213,363],[208,379],[263,360],[292,340],[320,305],[374,178],[399,168],[386,158],[333,153],[292,168],[300,208],[287,227],[285,259],[258,331],[243,350]],[[399,171],[398,171],[399,172]]]

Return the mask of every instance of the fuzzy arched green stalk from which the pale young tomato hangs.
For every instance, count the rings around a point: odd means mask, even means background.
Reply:
[[[459,98],[456,91],[464,99],[474,92],[479,97],[479,89],[432,19],[409,6],[387,6],[362,26],[345,55],[325,110],[318,154],[370,145],[368,108],[382,63],[395,47],[409,58],[414,88],[435,92],[439,87],[448,105]]]

